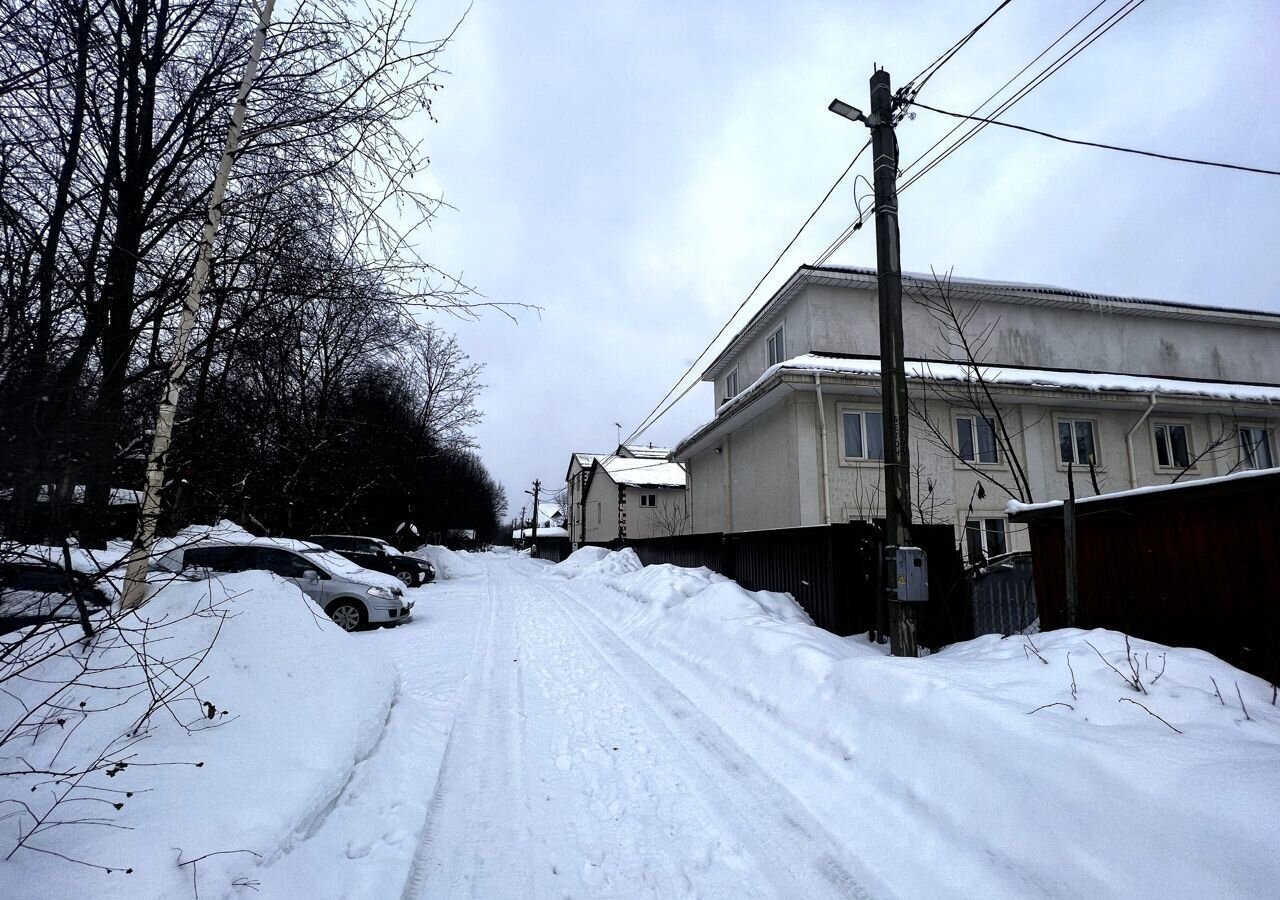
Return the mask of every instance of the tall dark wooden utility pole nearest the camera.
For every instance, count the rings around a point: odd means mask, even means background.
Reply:
[[[872,184],[876,189],[876,274],[879,283],[881,402],[884,425],[884,602],[890,648],[914,657],[915,608],[897,599],[895,548],[911,544],[911,453],[908,447],[906,369],[902,352],[902,261],[897,232],[897,137],[888,72],[872,76]],[[892,568],[888,568],[892,567]]]

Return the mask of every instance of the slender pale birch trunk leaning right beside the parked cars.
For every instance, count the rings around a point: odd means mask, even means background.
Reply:
[[[151,547],[155,543],[156,524],[160,521],[160,492],[164,488],[165,457],[169,453],[169,443],[173,439],[173,420],[178,412],[182,378],[187,373],[187,344],[191,341],[196,315],[200,312],[200,303],[205,296],[205,282],[209,280],[209,266],[214,259],[214,239],[218,237],[218,225],[223,219],[223,196],[227,193],[227,182],[230,179],[236,151],[239,150],[239,133],[244,127],[248,92],[257,78],[257,67],[262,59],[262,47],[266,45],[266,29],[271,26],[271,13],[274,9],[275,0],[264,0],[262,5],[257,8],[257,27],[253,29],[253,41],[250,44],[248,60],[244,63],[244,74],[241,78],[239,93],[236,95],[236,104],[232,106],[232,124],[227,132],[227,145],[223,147],[223,156],[218,161],[218,174],[214,177],[214,187],[209,195],[209,216],[205,219],[205,229],[200,236],[200,250],[196,253],[196,271],[187,291],[187,300],[182,306],[182,319],[178,321],[178,335],[174,342],[173,358],[169,361],[169,378],[164,394],[160,397],[160,406],[156,410],[156,425],[151,437],[151,453],[147,456],[147,478],[142,494],[142,510],[138,513],[138,530],[133,538],[133,547],[129,549],[128,563],[124,571],[124,590],[120,595],[122,609],[131,609],[146,599],[147,566],[151,561]]]

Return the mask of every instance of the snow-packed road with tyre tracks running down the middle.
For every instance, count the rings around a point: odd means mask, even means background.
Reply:
[[[795,798],[536,571],[495,559],[476,580],[404,900],[872,896]]]

